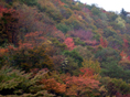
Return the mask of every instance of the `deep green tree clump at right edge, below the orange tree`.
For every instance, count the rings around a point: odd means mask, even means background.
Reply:
[[[122,78],[126,82],[129,82],[130,71],[123,71],[121,66],[118,65],[116,61],[105,62],[101,64],[101,76],[109,76],[111,78]]]

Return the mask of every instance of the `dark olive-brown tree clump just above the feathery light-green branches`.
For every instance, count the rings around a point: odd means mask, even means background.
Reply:
[[[50,69],[53,67],[53,62],[46,54],[43,46],[39,46],[33,50],[22,48],[14,52],[14,54],[11,55],[11,62],[13,63],[12,65],[19,66],[25,72],[29,72],[31,68],[35,67],[47,67]]]

